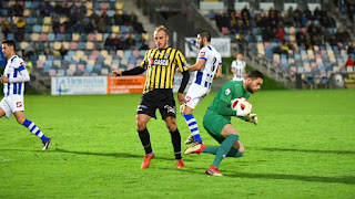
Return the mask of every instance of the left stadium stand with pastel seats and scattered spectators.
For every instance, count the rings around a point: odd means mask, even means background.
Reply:
[[[144,57],[149,36],[124,2],[12,1],[0,7],[7,39],[43,75],[109,75]]]

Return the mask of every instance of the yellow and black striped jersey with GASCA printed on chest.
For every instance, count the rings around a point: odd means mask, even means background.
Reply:
[[[181,72],[187,71],[185,57],[173,48],[148,50],[140,66],[148,70],[143,94],[155,88],[173,88],[176,66]]]

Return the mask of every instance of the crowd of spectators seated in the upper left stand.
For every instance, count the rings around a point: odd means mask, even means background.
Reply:
[[[145,33],[142,23],[138,20],[134,12],[115,10],[115,13],[109,17],[106,11],[101,11],[101,14],[92,11],[87,17],[88,10],[84,3],[78,6],[77,2],[61,1],[55,2],[54,6],[52,4],[50,1],[41,1],[40,9],[31,11],[31,17],[37,19],[51,17],[50,32],[52,33],[110,33],[112,25],[126,25],[128,34],[110,35],[105,40],[104,48],[114,50],[134,49],[135,42],[132,41],[132,34]],[[1,1],[0,8],[2,6]],[[6,36],[9,33],[13,33],[16,41],[21,42],[24,40],[24,33],[31,33],[27,29],[28,18],[23,17],[23,2],[13,1],[13,4],[7,8],[7,10],[9,18],[3,18],[1,22],[2,32]],[[64,20],[61,20],[62,18]],[[146,41],[142,38],[140,49],[146,48]]]

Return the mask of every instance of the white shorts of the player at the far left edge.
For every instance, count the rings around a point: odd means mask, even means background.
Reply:
[[[0,108],[2,108],[6,113],[6,117],[10,119],[11,115],[14,112],[23,112],[24,104],[23,104],[23,96],[21,95],[10,95],[6,96],[0,102]]]

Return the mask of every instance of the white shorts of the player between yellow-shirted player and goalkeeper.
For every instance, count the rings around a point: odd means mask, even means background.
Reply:
[[[205,97],[209,93],[210,88],[203,87],[195,83],[191,84],[185,96],[185,105],[194,109],[197,106],[197,104],[202,101],[202,98]]]

